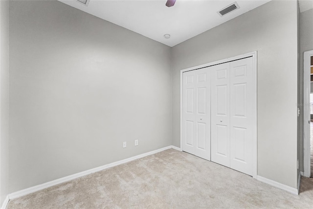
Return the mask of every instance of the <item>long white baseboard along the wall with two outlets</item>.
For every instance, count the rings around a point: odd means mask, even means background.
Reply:
[[[55,186],[55,185],[58,185],[58,184],[61,184],[61,183],[64,183],[64,182],[68,182],[70,180],[77,179],[79,177],[86,176],[88,174],[91,174],[91,173],[94,173],[94,172],[97,172],[97,171],[100,171],[100,170],[104,170],[106,168],[110,168],[110,167],[113,167],[113,166],[116,166],[116,165],[120,165],[120,164],[123,164],[123,163],[128,163],[130,161],[134,161],[136,159],[143,158],[143,157],[146,157],[148,155],[153,155],[153,154],[156,154],[158,152],[161,152],[161,151],[164,151],[164,150],[167,150],[167,149],[171,149],[171,148],[179,149],[179,151],[180,151],[180,148],[178,148],[176,146],[170,145],[170,146],[163,147],[163,148],[151,151],[151,152],[143,153],[141,155],[136,155],[134,157],[127,158],[127,159],[124,159],[124,160],[121,160],[121,161],[117,161],[117,162],[114,162],[114,163],[102,165],[102,166],[99,166],[99,167],[96,167],[96,168],[92,168],[92,169],[89,169],[89,170],[86,170],[86,171],[82,171],[80,173],[76,173],[76,174],[73,174],[73,175],[70,175],[70,176],[66,176],[66,177],[63,177],[63,178],[60,178],[60,179],[56,179],[56,180],[53,180],[53,181],[50,181],[50,182],[47,182],[47,183],[44,183],[44,184],[41,184],[41,185],[32,186],[32,187],[29,187],[29,188],[22,189],[20,191],[13,192],[13,193],[9,194],[9,199],[12,200],[12,199],[24,196],[26,194],[30,194],[30,193],[33,193],[35,191],[39,191],[41,189],[50,187],[50,186]]]

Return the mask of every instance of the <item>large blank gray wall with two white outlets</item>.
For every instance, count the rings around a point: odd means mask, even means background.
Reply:
[[[172,144],[169,46],[59,1],[9,18],[9,192]]]

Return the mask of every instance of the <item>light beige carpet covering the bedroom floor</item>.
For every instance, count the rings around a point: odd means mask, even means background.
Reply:
[[[300,195],[174,149],[11,200],[8,209],[313,208],[313,179]]]

